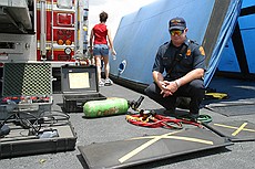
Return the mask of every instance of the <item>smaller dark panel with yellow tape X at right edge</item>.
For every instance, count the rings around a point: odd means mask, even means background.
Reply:
[[[255,124],[247,120],[210,123],[207,127],[231,141],[255,140]]]

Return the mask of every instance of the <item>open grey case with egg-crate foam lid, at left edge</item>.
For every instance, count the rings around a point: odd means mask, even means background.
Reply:
[[[51,112],[52,72],[49,63],[6,63],[3,67],[0,119],[11,113],[30,113],[38,118]]]

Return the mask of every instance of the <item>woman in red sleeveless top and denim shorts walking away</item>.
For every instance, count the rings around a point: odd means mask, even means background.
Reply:
[[[114,51],[113,47],[111,32],[105,24],[108,20],[108,13],[101,12],[99,17],[100,17],[100,23],[95,24],[91,30],[90,52],[91,54],[93,54],[95,60],[95,65],[98,68],[99,86],[104,86],[104,85],[113,84],[113,82],[109,78],[109,72],[110,72],[109,50],[111,50],[112,55],[116,55],[116,52]],[[104,63],[104,73],[105,73],[104,82],[101,78],[101,67],[102,67],[101,60]]]

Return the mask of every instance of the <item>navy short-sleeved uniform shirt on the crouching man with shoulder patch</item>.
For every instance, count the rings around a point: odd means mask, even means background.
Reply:
[[[180,53],[182,45],[176,47],[171,42],[166,42],[161,45],[157,50],[152,71],[157,71],[162,74],[165,71],[167,74],[166,78],[176,80],[184,76],[192,70],[205,70],[206,66],[204,49],[188,39],[185,40],[184,44],[187,45],[186,52],[183,54],[182,60],[176,62],[172,70],[170,67],[174,61],[175,53]],[[167,50],[167,47],[170,47],[170,50]],[[165,54],[166,50],[167,54]]]

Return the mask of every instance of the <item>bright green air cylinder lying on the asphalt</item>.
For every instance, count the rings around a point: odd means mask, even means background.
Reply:
[[[111,97],[102,101],[89,101],[83,106],[85,117],[102,117],[125,114],[129,103],[124,98]]]

